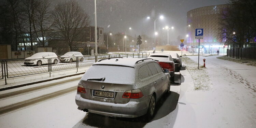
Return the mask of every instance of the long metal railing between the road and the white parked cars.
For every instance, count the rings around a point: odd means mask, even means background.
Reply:
[[[57,58],[40,58],[40,59],[16,59],[16,60],[0,60],[0,80],[27,76],[41,73],[76,69],[93,65],[98,59],[111,57],[123,58],[147,58],[149,53],[129,53],[129,54],[113,54],[113,55],[98,55],[98,56],[82,56],[82,57],[57,57]]]

